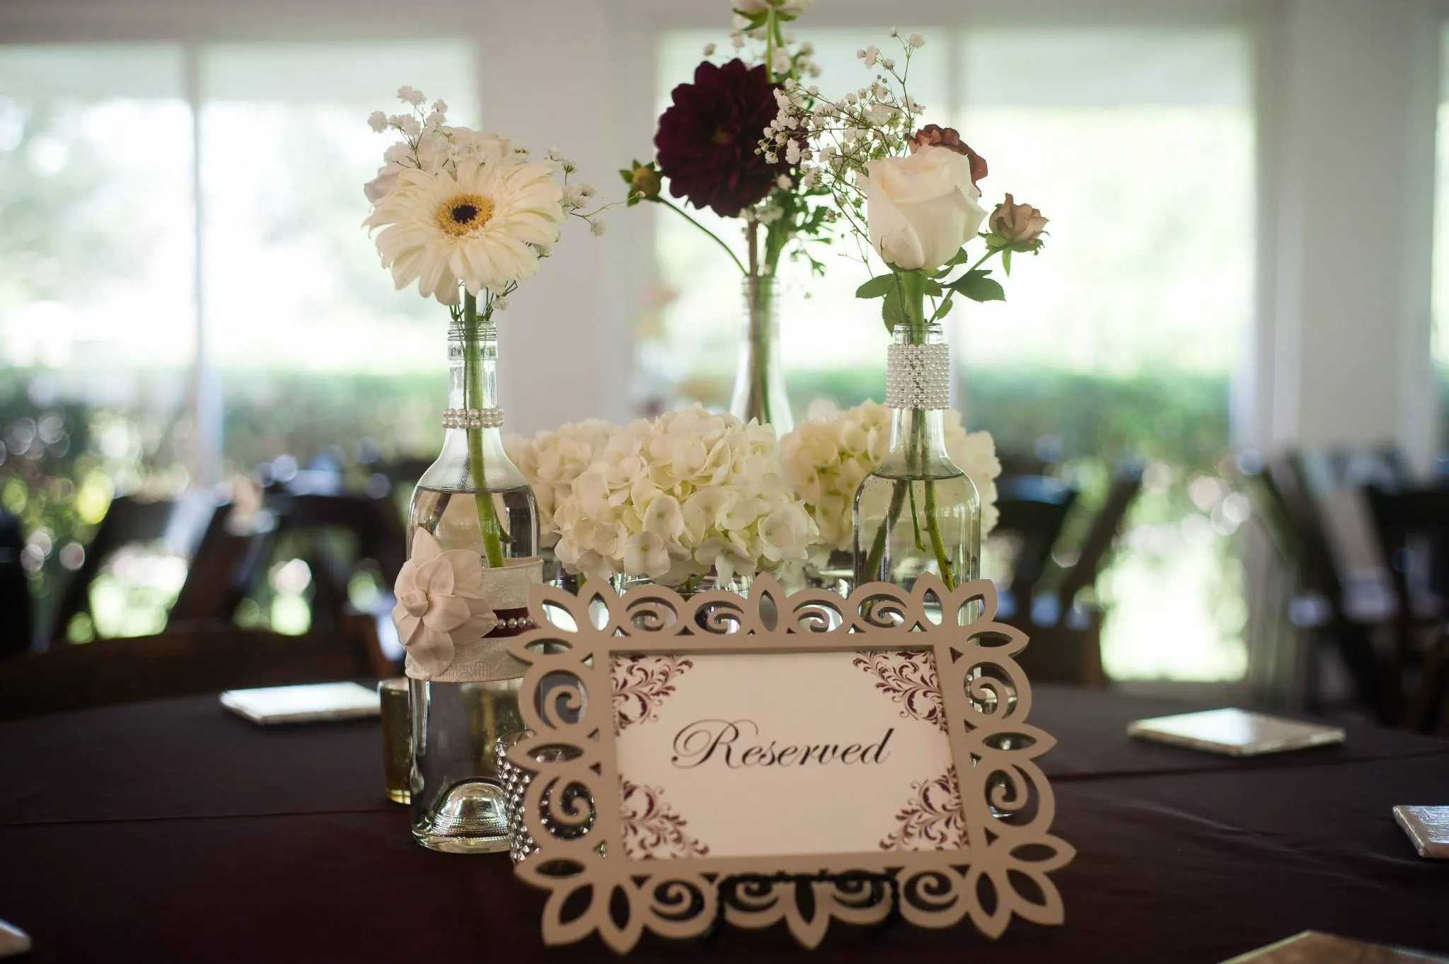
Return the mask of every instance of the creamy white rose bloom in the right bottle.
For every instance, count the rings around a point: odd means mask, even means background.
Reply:
[[[971,159],[955,151],[926,146],[904,158],[871,161],[865,171],[871,248],[897,268],[940,268],[987,217],[971,182]]]

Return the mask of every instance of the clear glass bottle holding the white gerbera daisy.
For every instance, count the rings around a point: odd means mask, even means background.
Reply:
[[[497,738],[523,727],[523,664],[503,651],[525,631],[527,583],[540,578],[538,505],[503,450],[497,397],[497,329],[455,324],[448,336],[448,431],[438,460],[413,491],[407,538],[425,528],[443,550],[483,557],[484,585],[500,624],[456,644],[452,664],[432,677],[409,663],[413,738],[413,837],[430,850],[509,848]],[[507,608],[498,601],[507,598]]]

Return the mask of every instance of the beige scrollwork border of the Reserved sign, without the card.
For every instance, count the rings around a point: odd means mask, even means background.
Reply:
[[[927,575],[910,592],[877,582],[842,598],[820,591],[785,595],[762,576],[748,598],[703,592],[682,599],[652,585],[619,596],[609,583],[590,580],[577,596],[535,586],[529,608],[539,628],[511,640],[509,650],[529,664],[519,702],[533,735],[509,758],[536,774],[523,822],[538,851],[516,871],[549,892],[546,944],[597,931],[625,952],[645,929],[690,938],[722,918],[745,928],[784,921],[801,944],[816,947],[830,919],[880,923],[893,903],[907,923],[946,928],[969,918],[993,938],[1013,915],[1062,922],[1062,899],[1048,874],[1075,850],[1049,832],[1055,800],[1036,763],[1055,741],[1026,722],[1032,690],[1014,657],[1027,640],[995,621],[990,582],[949,591]],[[933,620],[933,612],[946,615]],[[936,657],[965,847],[640,861],[625,855],[610,698],[614,654],[924,648]],[[895,884],[885,889],[880,880],[890,876]],[[735,883],[722,887],[727,879]]]

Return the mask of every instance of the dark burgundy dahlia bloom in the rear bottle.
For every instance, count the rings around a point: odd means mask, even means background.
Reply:
[[[790,171],[782,156],[769,164],[755,153],[780,110],[774,91],[764,65],[748,68],[739,59],[723,67],[706,61],[693,84],[675,87],[653,138],[669,194],[722,217],[764,200]]]

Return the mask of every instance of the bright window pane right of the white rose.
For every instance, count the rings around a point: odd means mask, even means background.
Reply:
[[[955,317],[968,418],[1003,449],[1062,459],[1090,496],[1120,454],[1151,459],[1129,551],[1100,586],[1107,672],[1236,679],[1227,537],[1248,504],[1217,463],[1252,321],[1249,36],[1003,29],[959,49],[959,126],[994,193],[1020,184],[1052,219],[1007,303]]]

